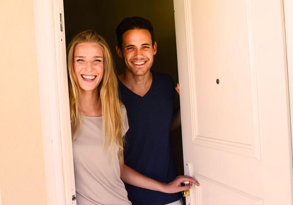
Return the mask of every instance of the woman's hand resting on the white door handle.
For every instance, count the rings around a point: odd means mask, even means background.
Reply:
[[[181,186],[181,183],[183,182],[189,182],[189,184],[185,184],[185,186]],[[186,189],[192,188],[192,183],[199,186],[200,183],[198,183],[196,180],[194,180],[192,177],[189,176],[178,176],[175,180],[170,182],[169,184],[165,184],[164,191],[165,193],[176,193],[176,192],[182,192]]]

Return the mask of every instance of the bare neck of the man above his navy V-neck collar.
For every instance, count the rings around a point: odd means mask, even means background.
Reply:
[[[149,91],[153,80],[150,71],[143,76],[135,76],[131,72],[125,70],[118,75],[118,78],[128,89],[141,97]]]

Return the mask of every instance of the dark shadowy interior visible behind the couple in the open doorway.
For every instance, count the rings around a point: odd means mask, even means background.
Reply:
[[[151,21],[154,27],[157,53],[152,70],[170,74],[178,82],[174,7],[172,0],[78,0],[64,1],[66,45],[79,31],[96,30],[108,42],[116,64],[117,73],[124,70],[122,60],[117,56],[115,29],[126,17],[141,16]],[[176,108],[179,97],[176,94]],[[183,171],[181,129],[171,135],[174,158],[178,174]]]

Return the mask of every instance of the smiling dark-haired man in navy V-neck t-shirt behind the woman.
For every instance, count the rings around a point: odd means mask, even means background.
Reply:
[[[173,79],[150,71],[157,45],[149,20],[125,18],[117,26],[116,34],[116,51],[125,65],[125,71],[118,75],[118,84],[130,127],[126,133],[125,164],[147,177],[170,183],[177,176],[170,142]],[[179,127],[180,123],[179,113],[172,124]],[[166,194],[129,184],[125,188],[134,205],[183,204],[180,193]]]

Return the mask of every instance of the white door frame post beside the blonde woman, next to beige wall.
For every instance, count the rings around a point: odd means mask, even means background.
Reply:
[[[63,0],[33,4],[47,204],[76,204]]]

